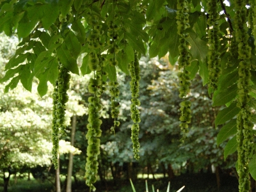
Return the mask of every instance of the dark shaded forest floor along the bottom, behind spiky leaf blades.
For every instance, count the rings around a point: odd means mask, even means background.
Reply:
[[[237,192],[238,181],[236,177],[230,175],[221,175],[221,185],[218,189],[215,174],[198,173],[198,174],[185,174],[175,177],[170,180],[166,179],[147,179],[148,191],[152,191],[152,184],[154,189],[159,192],[165,192],[168,186],[168,182],[171,182],[170,192],[175,192],[182,186],[182,192]],[[137,179],[132,181],[136,192],[145,192],[145,179]],[[63,185],[62,185],[63,186]],[[106,182],[97,182],[95,184],[96,191],[99,192],[132,192],[131,184],[129,180],[107,180]],[[3,187],[0,186],[0,192],[3,191]],[[8,192],[54,192],[52,184],[49,182],[36,182],[24,181],[18,182],[16,185],[10,185]],[[66,191],[64,188],[62,191]],[[78,182],[76,185],[72,185],[72,192],[88,192],[89,189],[85,186],[84,181]]]

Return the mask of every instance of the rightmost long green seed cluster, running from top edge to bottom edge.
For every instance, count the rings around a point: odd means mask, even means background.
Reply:
[[[237,147],[238,153],[238,170],[239,175],[239,191],[250,191],[250,177],[249,177],[249,156],[252,151],[252,127],[251,113],[248,103],[250,102],[249,83],[250,83],[250,56],[251,47],[248,45],[249,35],[247,33],[248,27],[246,24],[246,3],[244,1],[236,0],[236,42],[238,46],[238,58],[240,60],[238,66],[238,99],[237,106],[240,108],[237,115]]]

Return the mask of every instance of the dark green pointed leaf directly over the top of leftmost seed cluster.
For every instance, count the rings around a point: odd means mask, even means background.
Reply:
[[[60,59],[61,63],[73,74],[79,75],[79,69],[77,67],[76,60],[70,54],[70,51],[67,49],[67,45],[63,43],[61,47],[57,50],[57,56]]]

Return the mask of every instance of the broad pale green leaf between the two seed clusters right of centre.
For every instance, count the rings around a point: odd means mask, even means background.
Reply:
[[[192,60],[199,60],[204,63],[208,51],[207,43],[201,40],[193,30],[189,30],[188,42],[191,44]]]

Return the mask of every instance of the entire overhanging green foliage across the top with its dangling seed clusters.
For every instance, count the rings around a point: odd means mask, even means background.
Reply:
[[[237,149],[239,191],[249,191],[248,173],[256,178],[252,115],[256,97],[255,9],[254,1],[245,0],[230,0],[227,4],[222,0],[1,1],[0,31],[6,35],[17,33],[21,40],[15,55],[5,66],[6,74],[1,82],[8,81],[6,92],[15,88],[19,81],[31,91],[33,77],[36,77],[38,93],[43,96],[47,93],[48,81],[55,86],[64,82],[66,78],[60,80],[62,69],[83,75],[92,72],[88,86],[93,95],[88,100],[86,183],[95,189],[102,124],[100,95],[109,89],[114,118],[111,130],[115,131],[120,125],[117,67],[131,74],[131,118],[135,123],[132,142],[134,156],[138,158],[140,111],[137,106],[141,77],[135,65],[137,57],[146,54],[147,46],[151,58],[161,58],[169,52],[170,63],[179,63],[182,141],[186,140],[193,108],[190,79],[199,72],[203,84],[209,82],[212,106],[226,106],[216,115],[215,126],[227,122],[219,138],[224,141],[234,136],[225,147],[225,154],[227,157]],[[81,66],[77,65],[79,56],[83,56]],[[68,82],[63,86],[68,88]],[[61,91],[58,101],[67,99],[66,96]],[[54,118],[56,116],[60,128],[63,121],[59,117],[63,116],[64,108],[57,107]],[[231,131],[234,127],[237,127],[236,133]],[[56,127],[54,130],[58,131]],[[53,140],[57,141],[58,132],[53,134]],[[54,150],[57,150],[58,142],[54,143]],[[53,154],[56,159],[56,151]]]

